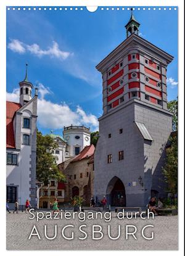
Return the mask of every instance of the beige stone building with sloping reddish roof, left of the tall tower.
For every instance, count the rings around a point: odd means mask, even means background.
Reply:
[[[94,183],[94,145],[84,147],[73,159],[59,165],[66,175],[65,202],[70,202],[74,196],[84,198],[84,205],[89,205],[93,196]]]

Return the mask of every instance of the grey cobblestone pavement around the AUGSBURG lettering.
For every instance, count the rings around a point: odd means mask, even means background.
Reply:
[[[157,216],[154,219],[142,220],[133,218],[131,220],[118,220],[116,213],[112,213],[112,220],[106,222],[104,219],[86,220],[81,222],[78,217],[74,220],[39,220],[38,222],[30,220],[31,215],[19,212],[18,214],[7,213],[7,250],[178,250],[178,216]],[[32,236],[30,240],[31,229],[36,225],[38,236]],[[54,236],[54,227],[57,225],[57,237],[54,240],[46,239],[44,236],[44,225],[47,225],[47,236]],[[74,231],[74,239],[67,240],[62,237],[62,228],[66,225],[75,227],[65,230],[66,236],[71,236]],[[85,240],[84,233],[79,231],[80,225],[87,225],[82,229],[88,233]],[[104,237],[101,240],[92,240],[92,225],[101,225]],[[110,234],[112,237],[118,235],[118,225],[121,226],[121,235],[117,240],[111,240],[108,236],[108,226],[110,225]],[[126,240],[126,225],[134,225],[137,232],[134,239],[128,236]],[[146,240],[142,237],[141,230],[146,225],[154,225],[154,228],[146,228],[144,234],[148,237],[154,231],[154,239]],[[97,228],[96,228],[97,230]],[[129,231],[133,231],[130,228]],[[95,235],[98,237],[98,234]]]

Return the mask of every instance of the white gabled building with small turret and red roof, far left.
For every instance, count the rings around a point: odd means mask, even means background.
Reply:
[[[27,199],[35,206],[36,199],[36,120],[37,89],[25,80],[19,83],[20,102],[6,102],[7,201],[10,209],[15,200],[25,205]]]

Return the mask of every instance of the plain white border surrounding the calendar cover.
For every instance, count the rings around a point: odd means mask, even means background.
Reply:
[[[178,251],[6,251],[6,6],[178,6],[178,82],[179,82],[179,250]],[[167,10],[168,11],[168,10]],[[1,155],[1,252],[4,254],[117,254],[117,255],[184,255],[184,1],[183,0],[1,0],[0,1],[0,102],[1,102],[1,133],[0,133],[0,155]],[[169,28],[170,33],[170,28]]]

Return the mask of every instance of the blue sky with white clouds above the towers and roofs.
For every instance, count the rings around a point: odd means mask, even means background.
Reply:
[[[11,8],[12,9],[12,8]],[[102,115],[101,74],[95,66],[126,38],[129,10],[7,10],[7,99],[17,101],[25,76],[39,87],[38,129],[44,134],[86,125]],[[168,66],[168,100],[178,93],[178,11],[135,10],[141,36],[175,57]]]

